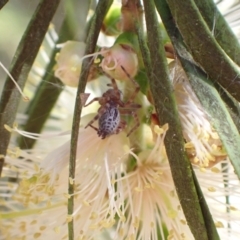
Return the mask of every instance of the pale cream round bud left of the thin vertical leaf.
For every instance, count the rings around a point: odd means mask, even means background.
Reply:
[[[67,41],[56,55],[55,77],[65,85],[77,87],[86,44]]]

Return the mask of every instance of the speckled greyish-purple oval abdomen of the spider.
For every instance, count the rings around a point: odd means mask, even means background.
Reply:
[[[98,121],[98,136],[104,139],[106,136],[116,133],[120,123],[120,113],[116,106],[108,107]]]

